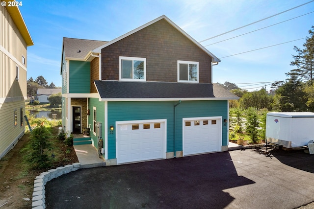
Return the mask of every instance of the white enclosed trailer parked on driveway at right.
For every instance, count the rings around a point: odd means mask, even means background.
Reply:
[[[287,148],[308,145],[314,140],[314,113],[267,113],[266,139]]]

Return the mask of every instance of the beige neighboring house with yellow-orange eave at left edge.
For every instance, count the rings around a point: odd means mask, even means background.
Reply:
[[[27,46],[34,43],[19,7],[0,6],[0,11],[1,159],[24,135]]]

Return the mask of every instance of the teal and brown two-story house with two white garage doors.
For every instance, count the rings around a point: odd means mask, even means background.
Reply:
[[[227,151],[238,97],[212,83],[219,62],[166,16],[109,42],[63,38],[63,128],[102,139],[106,165]]]

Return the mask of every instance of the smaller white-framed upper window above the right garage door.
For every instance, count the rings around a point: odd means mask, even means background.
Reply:
[[[178,60],[178,82],[198,83],[198,62]]]

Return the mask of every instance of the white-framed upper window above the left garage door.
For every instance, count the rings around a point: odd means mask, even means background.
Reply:
[[[120,57],[120,80],[146,81],[146,58]]]

